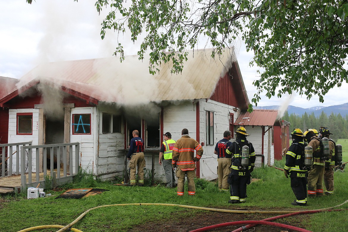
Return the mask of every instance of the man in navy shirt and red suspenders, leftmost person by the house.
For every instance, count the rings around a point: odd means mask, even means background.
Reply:
[[[133,138],[130,139],[130,147],[127,154],[130,168],[130,186],[136,184],[136,168],[138,168],[138,185],[144,186],[144,141],[139,137],[139,131],[133,130]]]

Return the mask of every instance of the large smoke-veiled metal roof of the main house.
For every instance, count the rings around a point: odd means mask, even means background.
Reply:
[[[139,104],[186,99],[206,99],[232,67],[237,64],[232,49],[226,48],[220,57],[211,58],[213,49],[189,50],[182,73],[171,74],[171,65],[162,64],[155,75],[149,73],[149,56],[98,58],[40,64],[21,78],[11,95],[0,104],[17,96],[40,80],[54,80],[57,85],[86,94],[95,100]],[[239,70],[239,69],[238,69]],[[241,75],[240,75],[241,77]],[[244,86],[242,78],[239,82]],[[248,104],[245,93],[244,98]],[[247,106],[246,106],[247,107]]]

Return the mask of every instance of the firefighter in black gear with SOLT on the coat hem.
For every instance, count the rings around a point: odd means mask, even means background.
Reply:
[[[250,173],[254,170],[255,150],[253,144],[246,140],[246,129],[238,127],[236,130],[236,142],[228,147],[226,153],[231,155],[231,173],[228,176],[230,184],[230,200],[228,203],[240,203],[246,201],[246,185],[250,184]]]

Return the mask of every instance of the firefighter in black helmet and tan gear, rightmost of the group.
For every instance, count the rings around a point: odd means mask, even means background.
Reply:
[[[329,128],[320,127],[319,137],[329,139],[329,158],[325,160],[324,165],[324,184],[325,184],[325,195],[331,195],[333,193],[333,169],[335,167],[335,142],[330,138]]]

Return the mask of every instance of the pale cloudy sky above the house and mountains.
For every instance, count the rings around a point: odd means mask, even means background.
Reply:
[[[0,1],[0,76],[21,78],[41,62],[67,61],[110,57],[117,44],[117,35],[108,31],[104,40],[100,38],[103,14],[98,15],[96,0],[36,0],[32,5],[25,0]],[[104,10],[104,14],[106,10]],[[126,55],[134,55],[139,43],[133,44],[129,37],[124,41]],[[250,67],[253,54],[247,53],[240,42],[236,53],[249,100],[256,88],[252,82],[257,67]],[[329,91],[324,103],[314,96],[310,101],[298,95],[272,97],[263,96],[259,106],[294,105],[303,108],[317,105],[330,106],[347,103],[348,85]],[[264,93],[266,94],[266,93]]]

